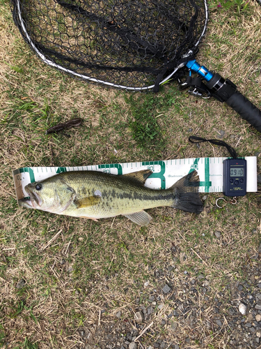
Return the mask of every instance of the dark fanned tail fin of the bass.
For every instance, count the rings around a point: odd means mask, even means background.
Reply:
[[[199,177],[196,171],[190,172],[173,184],[171,187],[175,197],[173,207],[200,214],[203,211],[203,203],[198,194],[198,186]]]

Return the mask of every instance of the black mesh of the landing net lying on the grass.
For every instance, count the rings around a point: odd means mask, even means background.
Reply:
[[[24,39],[46,63],[123,87],[158,85],[205,27],[204,0],[12,0]]]

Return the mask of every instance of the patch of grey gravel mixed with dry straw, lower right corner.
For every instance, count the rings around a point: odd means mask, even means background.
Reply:
[[[261,345],[261,268],[249,265],[246,270],[240,283],[221,283],[222,292],[216,292],[212,280],[203,274],[177,276],[175,268],[169,272],[168,266],[166,272],[152,270],[157,281],[146,289],[141,283],[141,297],[129,308],[132,318],[127,308],[114,312],[114,318],[106,311],[101,314],[102,326],[77,333],[85,346],[99,349],[207,348],[212,337],[214,348],[221,348],[226,340],[227,349],[257,349]]]

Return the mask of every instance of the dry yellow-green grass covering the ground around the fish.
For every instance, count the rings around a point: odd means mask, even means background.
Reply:
[[[158,339],[180,348],[233,348],[229,327],[221,332],[215,325],[215,299],[229,319],[229,309],[237,311],[231,302],[235,285],[260,278],[260,191],[222,209],[215,206],[220,194],[208,194],[199,216],[152,209],[152,223],[140,228],[121,216],[94,222],[20,209],[12,170],[226,156],[222,148],[188,141],[189,135],[217,138],[219,131],[239,156],[253,156],[260,152],[258,132],[226,105],[193,98],[175,82],[157,95],[129,94],[63,75],[35,57],[8,3],[0,3],[0,348],[90,343],[103,349],[113,330],[122,334],[116,339],[122,344],[127,332],[139,334],[152,321],[139,349]],[[198,61],[229,77],[260,106],[260,7],[254,1],[246,8],[235,1],[217,5],[211,3]],[[65,131],[70,138],[45,135],[74,117],[84,125]],[[26,283],[19,289],[21,279]],[[162,291],[166,284],[168,294]],[[149,306],[152,315],[138,327],[134,313]]]

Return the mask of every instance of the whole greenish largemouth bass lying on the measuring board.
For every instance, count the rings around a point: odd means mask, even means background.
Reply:
[[[152,219],[144,209],[170,206],[197,214],[203,210],[196,171],[166,190],[144,186],[151,173],[142,170],[119,176],[97,171],[62,172],[25,186],[29,199],[19,200],[19,205],[95,221],[121,214],[139,225],[148,225]]]

